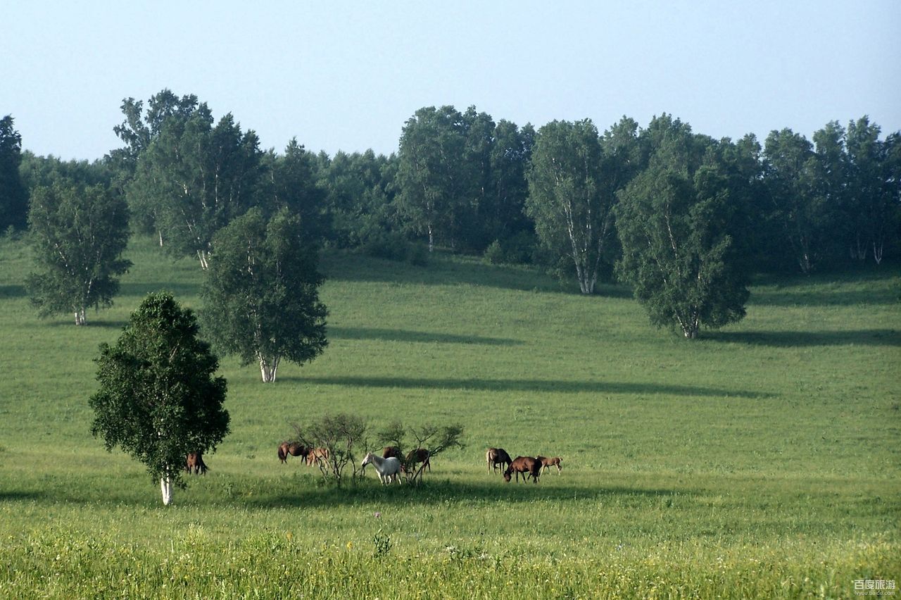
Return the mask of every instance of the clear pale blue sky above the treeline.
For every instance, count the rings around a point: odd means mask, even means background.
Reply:
[[[737,139],[863,115],[901,130],[901,2],[5,3],[0,116],[24,150],[98,159],[164,88],[264,150],[397,150],[423,106],[536,128],[669,113]]]

